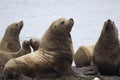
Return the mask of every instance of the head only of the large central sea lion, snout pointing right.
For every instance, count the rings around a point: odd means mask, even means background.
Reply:
[[[52,32],[55,32],[56,34],[64,34],[69,33],[74,25],[74,21],[72,18],[66,19],[66,18],[60,18],[54,21],[50,29],[54,30]],[[51,28],[52,27],[52,28]]]

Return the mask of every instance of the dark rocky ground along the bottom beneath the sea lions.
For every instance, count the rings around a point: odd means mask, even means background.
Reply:
[[[84,72],[91,66],[88,67],[82,67],[82,68],[75,68],[73,67],[73,70],[75,71],[75,75],[73,76],[62,76],[59,78],[29,78],[26,77],[24,80],[120,80],[120,77],[118,76],[103,76],[103,75],[83,75]],[[0,80],[4,80],[3,78],[3,72],[0,72]],[[16,79],[12,79],[16,80]]]

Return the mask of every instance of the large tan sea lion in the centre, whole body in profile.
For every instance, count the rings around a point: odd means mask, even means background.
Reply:
[[[37,51],[6,63],[4,67],[6,77],[25,75],[46,78],[74,74],[71,68],[73,44],[70,34],[73,24],[72,18],[55,20],[40,39]]]

